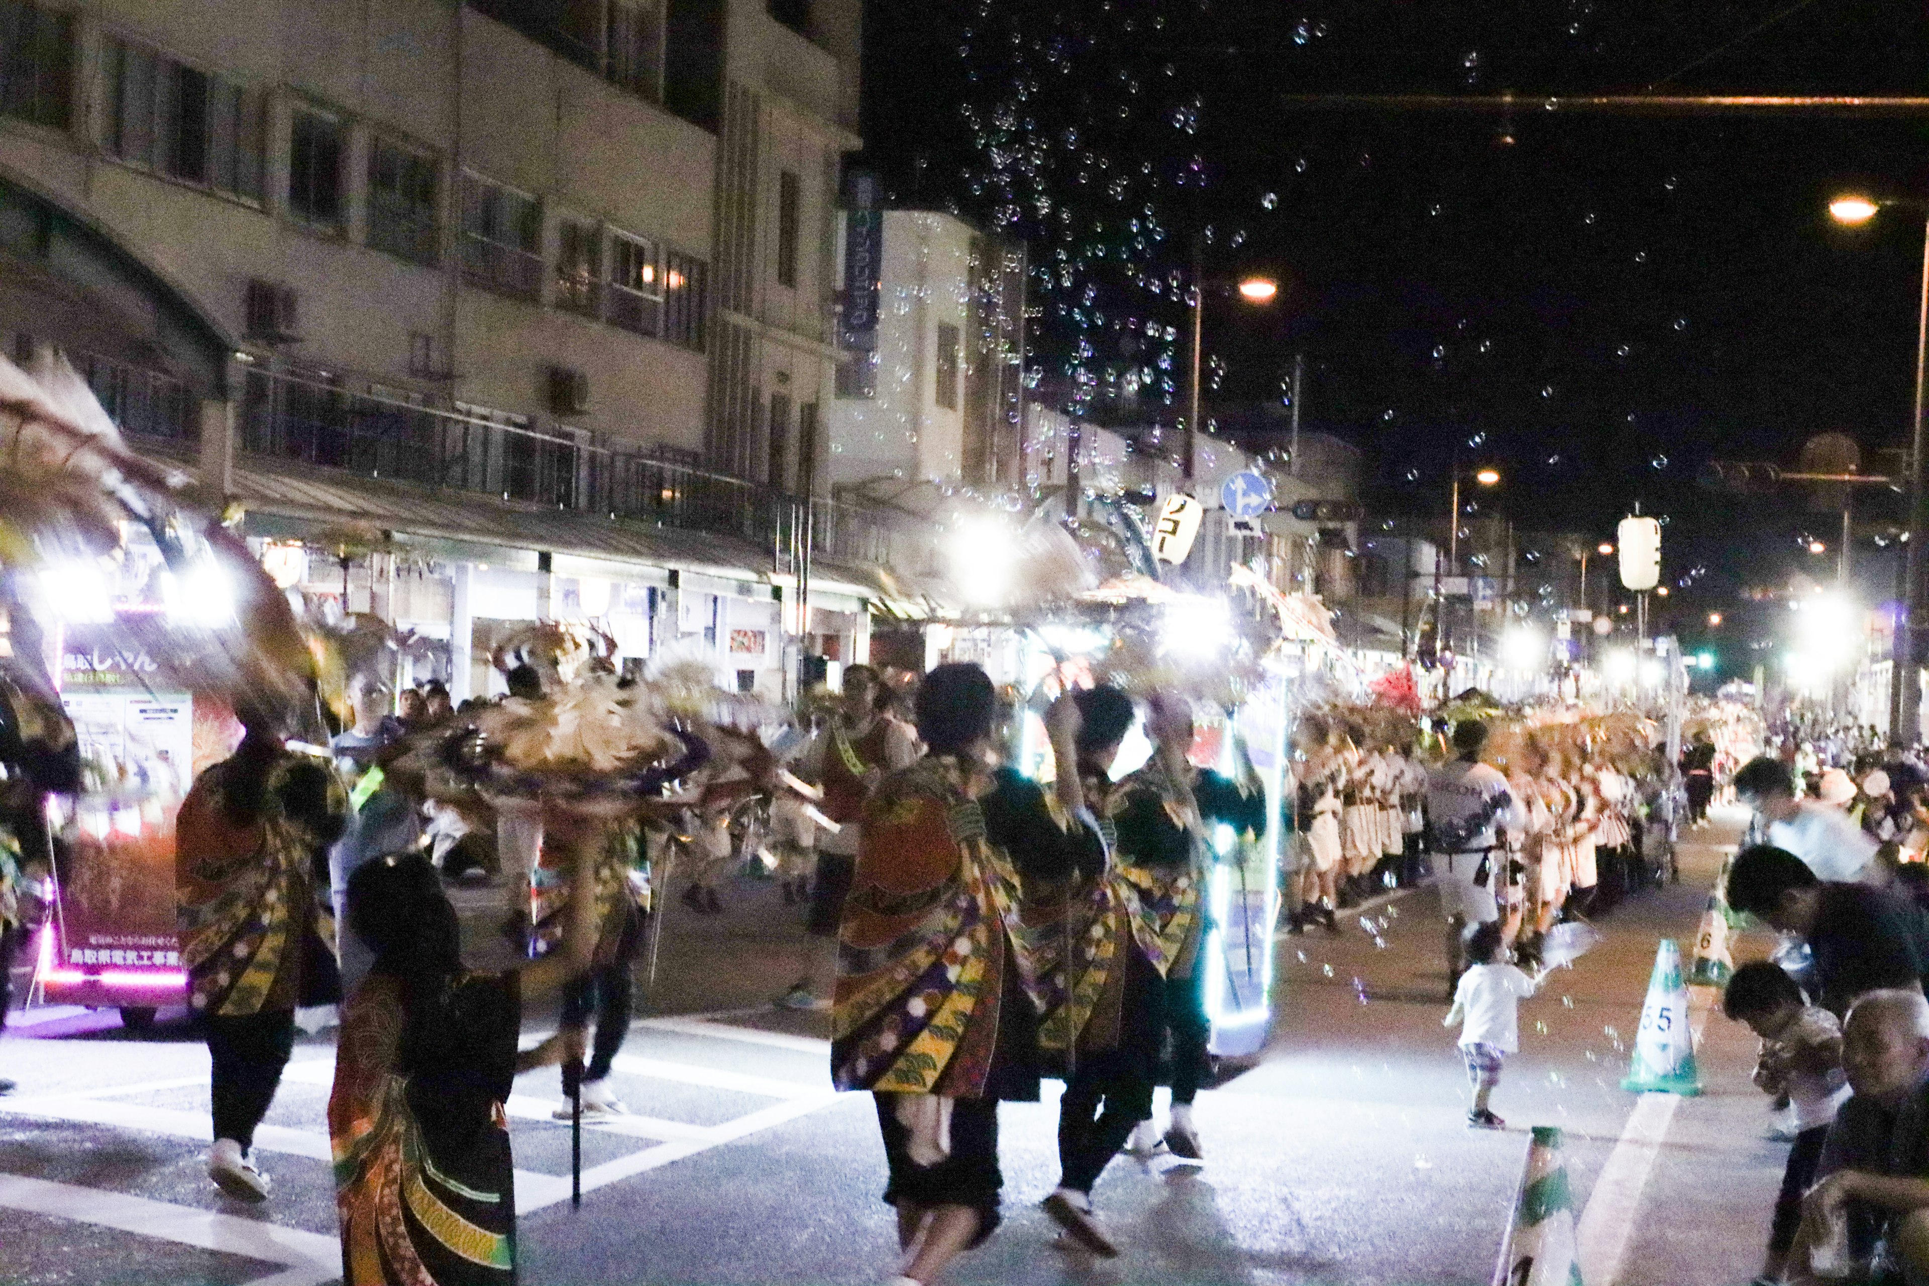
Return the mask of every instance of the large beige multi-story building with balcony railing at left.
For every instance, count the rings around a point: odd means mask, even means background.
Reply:
[[[860,586],[785,623],[772,575],[835,382],[858,8],[0,2],[0,341],[459,692],[550,615],[779,686],[787,634],[862,650]]]

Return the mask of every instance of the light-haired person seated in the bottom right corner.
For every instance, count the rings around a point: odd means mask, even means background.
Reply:
[[[1842,1033],[1854,1091],[1834,1116],[1802,1203],[1790,1282],[1929,1280],[1929,1001],[1871,991]],[[1885,1253],[1877,1253],[1885,1246]]]

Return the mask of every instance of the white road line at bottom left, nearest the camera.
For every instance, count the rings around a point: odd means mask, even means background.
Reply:
[[[341,1242],[338,1238],[282,1228],[258,1219],[237,1219],[19,1174],[0,1174],[0,1205],[224,1255],[245,1255],[284,1269],[272,1276],[255,1278],[255,1286],[318,1286],[341,1276]]]

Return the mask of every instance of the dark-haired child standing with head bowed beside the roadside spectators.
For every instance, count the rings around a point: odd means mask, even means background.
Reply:
[[[1761,1037],[1755,1085],[1769,1095],[1786,1095],[1794,1112],[1794,1143],[1782,1192],[1775,1197],[1769,1230],[1769,1257],[1757,1282],[1782,1280],[1788,1247],[1802,1226],[1802,1197],[1815,1184],[1823,1139],[1834,1111],[1848,1099],[1842,1072],[1842,1024],[1834,1014],[1809,1005],[1796,979],[1779,964],[1744,964],[1721,995],[1721,1012],[1746,1022]]]

